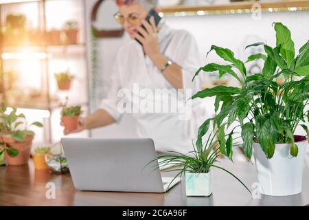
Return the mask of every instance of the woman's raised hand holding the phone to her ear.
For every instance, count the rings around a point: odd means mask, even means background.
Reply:
[[[141,21],[141,24],[144,25],[146,30],[139,26],[137,30],[139,33],[141,33],[142,36],[136,33],[135,38],[143,45],[145,54],[152,59],[160,54],[155,18],[151,17],[150,23],[148,23],[146,20],[143,20]]]

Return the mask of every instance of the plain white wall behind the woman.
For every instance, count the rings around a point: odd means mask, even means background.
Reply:
[[[91,8],[95,0],[87,0],[87,18],[90,18]],[[113,21],[113,13],[117,11],[112,0],[108,0],[100,8],[100,27],[112,28],[117,25]],[[89,19],[90,20],[90,19]],[[250,43],[266,41],[269,45],[275,45],[275,32],[272,27],[273,22],[282,22],[288,26],[292,32],[295,49],[299,49],[309,39],[309,11],[299,12],[263,12],[260,21],[251,19],[251,14],[225,14],[207,15],[203,17],[165,17],[165,21],[172,28],[181,28],[194,34],[200,52],[196,56],[203,56],[205,63],[220,61],[215,54],[205,55],[211,45],[228,47],[235,52],[236,57],[245,59],[249,51],[244,51],[244,47]],[[88,38],[90,38],[90,25],[88,25]],[[130,41],[127,36],[121,39],[101,39],[98,42],[98,93],[97,100],[91,100],[91,111],[99,103],[99,98],[104,97],[104,92],[108,89],[108,78],[113,65],[113,58],[119,45],[124,41]],[[91,47],[89,47],[91,48]],[[91,63],[91,49],[89,49]],[[89,67],[91,72],[91,66]],[[91,80],[90,80],[91,87]],[[209,101],[209,111],[212,109],[212,100]],[[129,115],[124,115],[119,124],[106,126],[102,129],[95,129],[93,137],[135,137],[135,123]]]

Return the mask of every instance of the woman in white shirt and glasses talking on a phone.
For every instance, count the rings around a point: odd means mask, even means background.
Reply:
[[[110,89],[99,109],[83,118],[77,130],[65,133],[106,126],[130,112],[139,137],[152,138],[157,151],[188,153],[205,119],[201,103],[187,101],[201,89],[199,78],[192,82],[201,67],[194,37],[185,30],[168,27],[163,19],[157,26],[153,17],[149,23],[145,21],[150,9],[156,7],[156,0],[116,3],[119,12],[115,19],[132,41],[117,53]]]

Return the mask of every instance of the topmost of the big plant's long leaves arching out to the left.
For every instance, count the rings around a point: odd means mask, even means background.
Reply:
[[[231,50],[229,50],[227,48],[217,47],[216,45],[212,45],[209,52],[211,52],[211,50],[215,50],[216,54],[218,54],[218,56],[223,58],[225,61],[229,61],[229,62],[233,63],[233,65],[235,65],[235,67],[240,71],[242,76],[244,78],[246,77],[247,70],[246,70],[246,67],[244,67],[244,63],[242,63],[242,61],[236,59],[234,57],[234,53]],[[209,52],[207,53],[207,55],[209,54]]]

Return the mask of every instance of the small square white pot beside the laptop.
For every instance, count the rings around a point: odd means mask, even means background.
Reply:
[[[212,193],[212,171],[208,173],[185,173],[187,196],[208,197]]]

